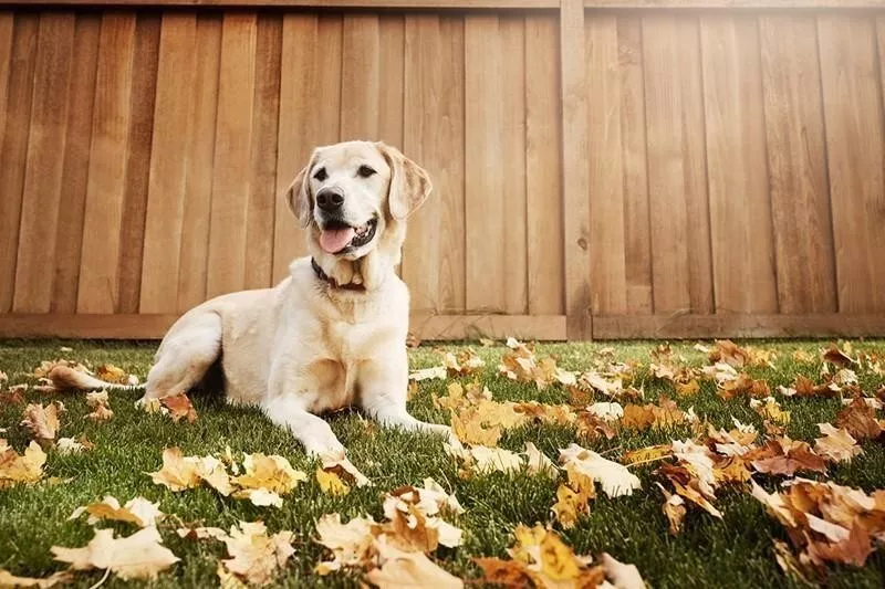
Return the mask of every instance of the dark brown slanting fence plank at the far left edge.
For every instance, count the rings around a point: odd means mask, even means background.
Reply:
[[[18,14],[4,96],[3,135],[0,144],[0,313],[12,309],[15,261],[19,248],[22,189],[31,126],[31,103],[39,33],[37,14]]]

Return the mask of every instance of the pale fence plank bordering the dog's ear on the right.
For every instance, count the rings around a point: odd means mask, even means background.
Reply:
[[[403,150],[430,175],[434,193],[409,219],[408,239],[403,248],[403,280],[409,285],[412,308],[435,312],[440,307],[439,218],[444,208],[436,170],[436,147],[439,108],[441,106],[441,70],[433,64],[441,52],[439,17],[406,15],[405,22],[405,96]],[[433,270],[431,270],[433,269]]]

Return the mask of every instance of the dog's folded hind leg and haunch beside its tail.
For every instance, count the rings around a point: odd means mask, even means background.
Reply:
[[[147,375],[143,400],[162,399],[196,386],[221,353],[221,317],[196,308],[163,338]]]

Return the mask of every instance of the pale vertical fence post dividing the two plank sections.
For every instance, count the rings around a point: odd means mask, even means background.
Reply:
[[[590,200],[584,2],[560,4],[562,67],[562,197],[565,313],[569,340],[590,339]]]

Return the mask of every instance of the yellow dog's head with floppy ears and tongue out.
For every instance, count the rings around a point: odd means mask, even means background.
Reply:
[[[427,172],[398,150],[347,141],[315,149],[287,198],[324,254],[357,260],[389,241],[385,232],[429,192]]]

